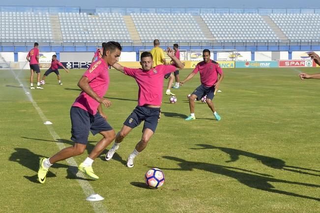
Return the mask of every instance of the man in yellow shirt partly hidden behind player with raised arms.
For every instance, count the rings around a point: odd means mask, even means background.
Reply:
[[[153,46],[154,46],[154,48],[150,52],[151,55],[152,55],[152,58],[153,58],[153,66],[157,66],[159,64],[166,64],[165,55],[163,54],[163,50],[159,47],[160,46],[160,41],[158,39],[154,39]],[[169,78],[168,88],[167,88],[166,94],[175,95],[170,90],[171,89],[171,85],[174,83],[174,74],[173,73],[168,73],[167,75],[165,75],[164,78],[165,79]]]

